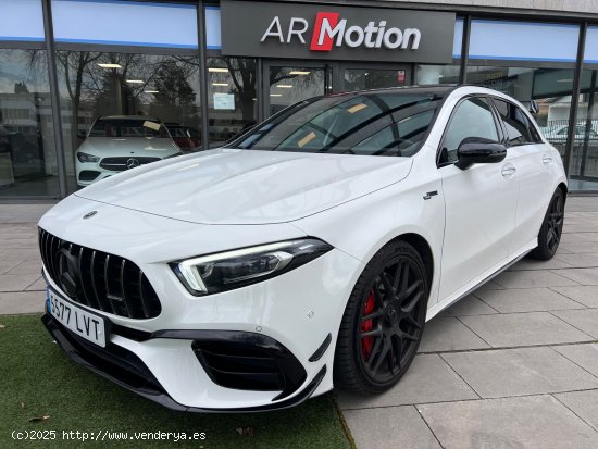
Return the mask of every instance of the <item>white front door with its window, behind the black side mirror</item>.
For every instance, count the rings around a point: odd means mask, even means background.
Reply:
[[[509,152],[500,163],[461,170],[454,163],[465,138],[503,140],[486,98],[469,97],[458,103],[440,144],[438,172],[446,204],[440,300],[501,263],[509,255],[515,225],[518,180]]]

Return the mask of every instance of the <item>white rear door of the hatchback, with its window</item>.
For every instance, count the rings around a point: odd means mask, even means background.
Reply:
[[[518,251],[538,236],[541,220],[553,191],[550,167],[557,154],[541,141],[527,114],[516,104],[493,98],[501,119],[510,162],[516,169],[519,201],[511,251]]]

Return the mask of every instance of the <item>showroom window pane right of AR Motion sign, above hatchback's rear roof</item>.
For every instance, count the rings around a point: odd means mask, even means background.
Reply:
[[[541,132],[564,159],[580,26],[472,20],[466,83],[489,87],[526,108],[535,100]]]

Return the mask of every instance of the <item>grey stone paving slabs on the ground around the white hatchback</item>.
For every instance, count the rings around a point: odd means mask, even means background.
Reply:
[[[42,308],[36,222],[0,204],[0,314]],[[598,448],[598,198],[553,260],[523,260],[426,325],[390,391],[337,392],[359,448]]]

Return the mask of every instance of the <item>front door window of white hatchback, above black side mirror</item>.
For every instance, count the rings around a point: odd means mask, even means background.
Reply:
[[[457,162],[457,149],[466,138],[498,141],[493,112],[483,98],[471,98],[457,107],[445,134],[440,163]]]

